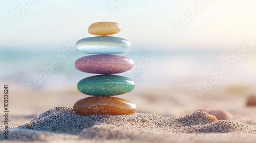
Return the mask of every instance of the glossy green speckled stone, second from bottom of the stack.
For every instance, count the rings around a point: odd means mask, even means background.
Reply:
[[[132,79],[117,75],[87,77],[77,83],[77,89],[90,96],[116,96],[135,88]]]

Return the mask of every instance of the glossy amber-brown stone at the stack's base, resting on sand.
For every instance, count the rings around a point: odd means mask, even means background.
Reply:
[[[130,115],[136,113],[136,105],[117,97],[89,97],[77,101],[73,107],[79,115]]]

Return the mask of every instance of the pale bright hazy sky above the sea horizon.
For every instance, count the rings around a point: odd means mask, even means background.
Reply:
[[[93,36],[87,29],[97,21],[118,22],[122,30],[113,36],[141,50],[237,50],[245,39],[256,41],[254,0],[33,1],[1,2],[0,49],[67,46],[76,34]]]

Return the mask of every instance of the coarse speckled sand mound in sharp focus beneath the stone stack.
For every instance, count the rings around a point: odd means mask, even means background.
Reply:
[[[136,130],[164,133],[253,132],[255,128],[231,120],[211,122],[206,112],[195,112],[182,117],[164,117],[157,114],[80,116],[72,107],[61,106],[46,111],[30,123],[17,128],[55,133],[81,134],[101,130]]]

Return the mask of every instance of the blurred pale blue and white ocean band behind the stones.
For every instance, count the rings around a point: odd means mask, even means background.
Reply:
[[[236,64],[227,60],[232,53],[234,52],[130,51],[122,55],[135,61],[134,68],[119,75],[130,77],[141,86],[202,87],[204,80],[214,76],[212,72],[221,70],[225,65],[228,67],[228,73],[223,74],[223,78],[218,80],[218,85],[255,83],[255,53],[246,53]],[[82,78],[94,75],[82,73],[74,67],[74,62],[78,58],[87,55],[76,50],[65,53],[61,49],[0,50],[0,79],[2,83],[11,81],[24,85],[34,84],[35,77],[40,77],[40,74],[45,72],[44,68],[51,66],[52,61],[56,61],[58,67],[52,68],[52,72],[37,85],[38,88],[55,88],[70,82],[77,83]]]

